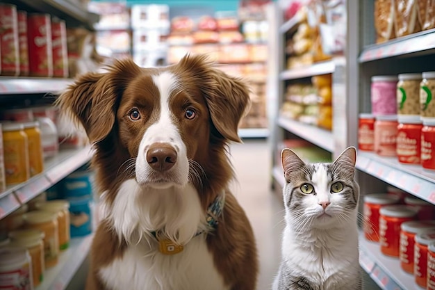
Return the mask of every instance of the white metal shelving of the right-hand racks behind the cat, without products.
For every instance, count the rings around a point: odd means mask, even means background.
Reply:
[[[340,60],[331,70],[325,69],[328,62],[315,63],[300,70],[284,70],[285,33],[299,23],[290,19],[279,24],[277,94],[275,100],[277,118],[272,124],[272,170],[271,176],[281,198],[281,188],[285,184],[281,164],[275,164],[277,144],[283,140],[283,131],[331,152],[337,156],[345,147],[357,147],[358,115],[368,113],[370,104],[370,78],[374,75],[397,75],[400,73],[433,71],[435,61],[435,29],[414,33],[402,38],[375,44],[374,0],[347,1],[347,45],[345,60]],[[279,14],[281,13],[281,14]],[[277,18],[281,18],[279,11]],[[320,65],[324,65],[320,69]],[[284,97],[284,81],[306,78],[315,74],[332,72],[334,129],[329,134],[320,134],[317,128],[304,127],[295,121],[279,116],[279,106]],[[312,129],[312,131],[309,131]],[[322,132],[325,133],[325,132]],[[374,152],[359,151],[356,162],[357,178],[361,194],[382,192],[387,185],[395,186],[417,198],[435,204],[435,172],[424,170],[421,166],[399,163],[395,157],[382,157]],[[362,199],[360,200],[361,207]],[[362,207],[361,207],[362,208]],[[400,268],[399,259],[381,254],[378,243],[364,239],[361,233],[359,242],[360,264],[379,289],[409,290],[418,289],[413,275]],[[370,288],[371,289],[371,288]]]

